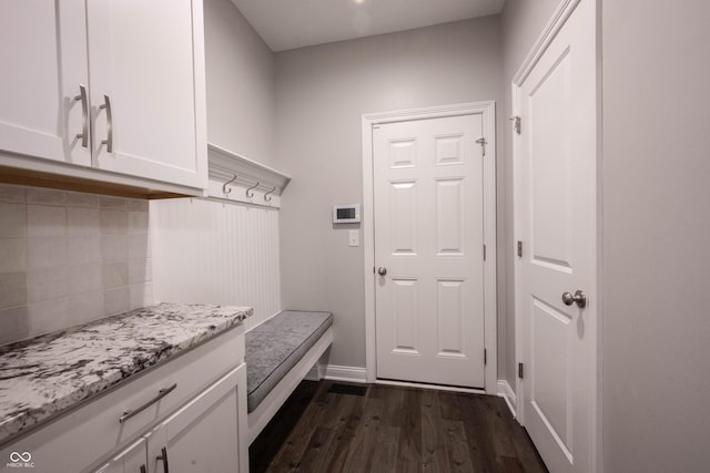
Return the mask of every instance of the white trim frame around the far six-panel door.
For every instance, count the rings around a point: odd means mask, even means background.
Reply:
[[[363,246],[365,264],[365,370],[367,382],[377,382],[377,347],[375,331],[375,226],[374,226],[374,176],[373,176],[373,127],[385,123],[408,122],[413,120],[440,119],[460,115],[480,114],[486,156],[484,157],[484,346],[487,360],[485,370],[485,391],[497,393],[497,284],[496,284],[496,104],[494,101],[458,103],[426,109],[398,110],[382,113],[367,113],[362,116],[363,133]],[[481,248],[483,251],[483,248]],[[392,383],[392,382],[389,382]],[[407,383],[398,383],[407,384]],[[422,385],[422,384],[417,384]],[[444,389],[436,387],[437,389]],[[455,389],[459,391],[474,391]]]

